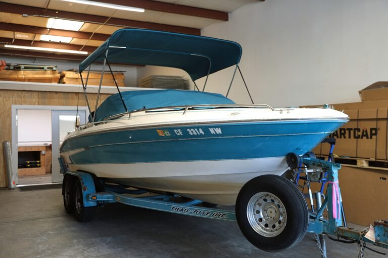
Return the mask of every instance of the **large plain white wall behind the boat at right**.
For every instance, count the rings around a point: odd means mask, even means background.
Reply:
[[[254,1],[202,35],[241,44],[240,67],[255,103],[357,102],[358,90],[388,81],[387,10],[386,0]],[[226,93],[228,70],[208,89]],[[239,78],[230,97],[249,102]]]

